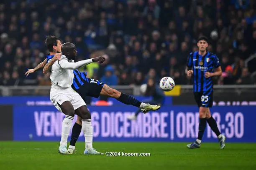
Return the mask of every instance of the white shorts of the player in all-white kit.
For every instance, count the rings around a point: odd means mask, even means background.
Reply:
[[[78,109],[83,105],[86,105],[82,97],[72,88],[68,88],[65,90],[51,90],[50,100],[54,104],[56,109],[58,109],[60,112],[62,112],[60,105],[65,101],[71,102],[74,110]]]

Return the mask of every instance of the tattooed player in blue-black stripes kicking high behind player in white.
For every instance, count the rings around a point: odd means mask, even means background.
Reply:
[[[43,73],[45,74],[51,70],[51,66],[54,64],[54,62],[58,62],[58,60],[60,60],[60,53],[62,47],[61,40],[58,37],[49,36],[46,38],[46,46],[50,52],[49,55],[47,55],[46,59],[43,62],[41,62],[38,66],[36,66],[34,69],[29,69],[25,73],[25,75],[28,76],[28,74],[33,73],[42,67],[44,67]],[[69,62],[74,62],[75,56],[77,55],[77,50],[75,49],[75,46],[72,51],[74,51],[75,55],[72,55],[72,57],[74,58],[67,57],[69,59]],[[64,53],[66,54],[70,52]],[[101,57],[96,57],[91,60],[93,60],[93,62],[100,62],[100,58]],[[126,105],[133,105],[135,107],[138,107],[141,109],[143,113],[146,113],[151,110],[158,110],[160,108],[159,105],[150,105],[149,103],[140,102],[135,97],[122,93],[113,88],[110,88],[108,85],[99,80],[88,78],[86,72],[79,72],[78,70],[73,70],[73,73],[74,79],[71,87],[82,97],[83,100],[85,100],[86,96],[98,98],[100,95],[106,95],[108,97],[113,97]],[[68,149],[69,154],[73,154],[74,152],[75,144],[77,142],[79,134],[81,133],[81,125],[82,119],[78,116],[77,121],[72,128],[71,141]]]

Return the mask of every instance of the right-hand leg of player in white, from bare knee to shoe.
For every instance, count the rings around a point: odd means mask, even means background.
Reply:
[[[93,128],[91,122],[91,113],[87,109],[87,106],[83,105],[75,110],[75,114],[82,118],[82,131],[85,138],[85,150],[84,154],[92,155],[104,155],[92,148]]]

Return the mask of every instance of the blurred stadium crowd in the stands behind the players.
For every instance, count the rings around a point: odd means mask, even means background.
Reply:
[[[24,76],[45,59],[46,35],[73,42],[78,60],[104,55],[81,70],[108,85],[190,84],[187,56],[205,35],[223,70],[215,84],[254,84],[255,9],[253,0],[2,0],[0,85],[51,85],[41,70]]]

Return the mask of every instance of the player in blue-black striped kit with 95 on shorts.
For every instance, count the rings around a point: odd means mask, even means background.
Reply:
[[[207,37],[200,37],[197,41],[197,52],[191,52],[187,58],[186,74],[188,77],[194,77],[194,97],[199,107],[199,128],[198,138],[195,142],[188,144],[187,148],[200,148],[202,137],[205,132],[206,123],[208,122],[212,131],[217,135],[220,149],[225,148],[225,136],[221,135],[216,121],[210,113],[212,107],[213,97],[213,82],[212,76],[220,76],[222,70],[220,62],[215,54],[207,51],[208,39]],[[215,72],[213,69],[215,68]]]

